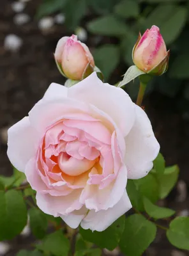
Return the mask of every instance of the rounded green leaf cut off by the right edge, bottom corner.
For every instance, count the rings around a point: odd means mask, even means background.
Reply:
[[[172,220],[167,230],[167,238],[179,249],[189,250],[189,218],[177,217]]]

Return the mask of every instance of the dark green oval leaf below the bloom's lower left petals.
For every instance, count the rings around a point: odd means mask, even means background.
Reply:
[[[29,224],[34,236],[42,239],[47,232],[47,218],[45,214],[37,208],[29,209]]]

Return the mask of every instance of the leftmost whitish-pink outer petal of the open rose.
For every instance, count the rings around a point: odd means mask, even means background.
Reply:
[[[20,172],[24,172],[27,162],[34,157],[38,143],[38,132],[31,127],[28,117],[8,129],[7,155]]]

